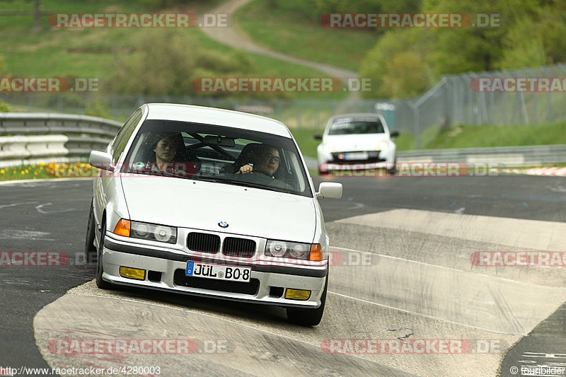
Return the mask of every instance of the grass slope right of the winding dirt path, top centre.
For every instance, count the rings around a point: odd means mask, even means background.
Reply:
[[[284,54],[358,71],[378,40],[375,30],[330,29],[301,13],[271,8],[255,0],[236,12],[236,21],[254,42]]]

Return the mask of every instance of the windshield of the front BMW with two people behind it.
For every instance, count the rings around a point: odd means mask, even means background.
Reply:
[[[208,180],[312,197],[292,139],[210,124],[146,120],[122,172]]]

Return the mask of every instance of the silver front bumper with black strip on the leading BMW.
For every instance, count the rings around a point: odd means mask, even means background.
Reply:
[[[214,255],[187,253],[183,250],[151,248],[131,242],[128,238],[107,232],[103,249],[103,279],[112,284],[142,286],[149,289],[176,291],[195,296],[207,296],[233,301],[246,301],[294,308],[318,308],[323,294],[328,263],[322,266],[266,264],[258,260],[229,258],[219,261]],[[217,279],[185,277],[187,261],[213,264],[236,264],[250,267],[250,283],[226,282]],[[145,269],[144,280],[120,276],[120,267]],[[311,291],[306,301],[284,298],[285,289]]]

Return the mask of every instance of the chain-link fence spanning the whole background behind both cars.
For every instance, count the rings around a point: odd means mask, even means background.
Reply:
[[[560,88],[543,93],[508,91],[497,93],[474,88],[490,78],[560,78]],[[489,89],[489,88],[488,88]],[[553,88],[550,88],[553,89]],[[451,124],[541,124],[566,119],[566,65],[536,69],[491,71],[443,76],[427,93],[411,100],[246,100],[241,97],[172,97],[105,95],[103,93],[3,93],[0,101],[19,112],[88,114],[125,120],[143,103],[187,103],[253,112],[281,120],[291,128],[323,129],[328,119],[347,112],[380,112],[391,129],[415,134],[415,148],[425,130]]]

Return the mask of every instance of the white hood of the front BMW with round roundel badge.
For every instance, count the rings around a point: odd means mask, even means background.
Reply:
[[[122,177],[131,220],[311,243],[313,198],[183,178]],[[218,224],[229,224],[221,228]],[[292,238],[292,239],[289,239]]]

